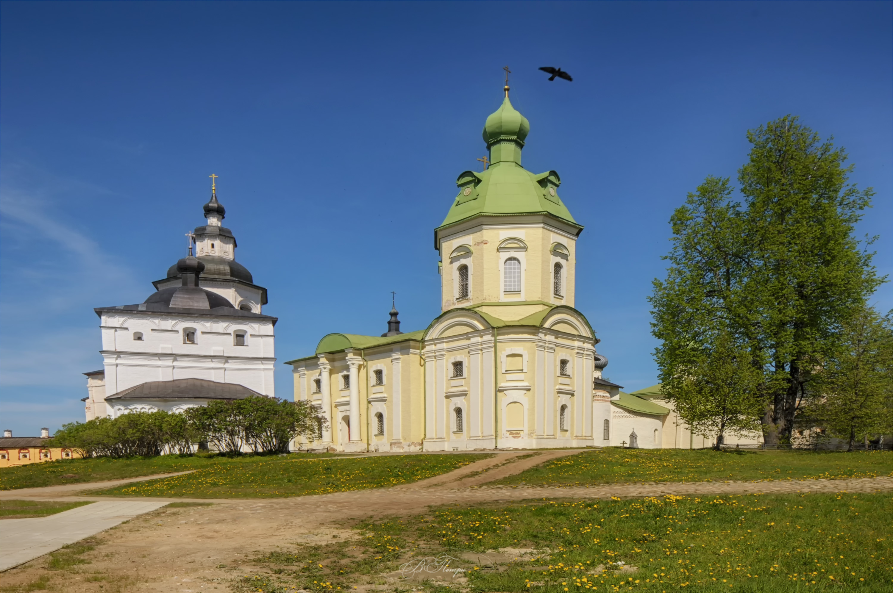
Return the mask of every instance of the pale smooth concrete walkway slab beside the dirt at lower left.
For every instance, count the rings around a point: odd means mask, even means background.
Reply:
[[[35,519],[4,519],[0,521],[0,571],[54,552],[167,504],[103,501]]]

